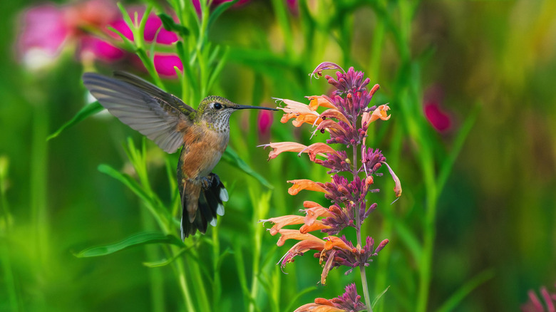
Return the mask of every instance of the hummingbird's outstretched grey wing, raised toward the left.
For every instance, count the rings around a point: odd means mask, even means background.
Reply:
[[[195,110],[179,98],[130,73],[115,72],[114,78],[85,73],[83,83],[112,115],[166,152],[183,145]]]

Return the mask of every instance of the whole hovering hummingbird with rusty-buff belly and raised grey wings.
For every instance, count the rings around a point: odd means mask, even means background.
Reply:
[[[236,110],[276,110],[239,105],[211,95],[197,110],[156,85],[123,71],[113,77],[83,74],[83,83],[104,108],[130,128],[153,140],[170,154],[182,147],[177,162],[180,191],[182,240],[216,226],[224,215],[228,193],[212,169],[220,161],[230,140],[230,115]]]

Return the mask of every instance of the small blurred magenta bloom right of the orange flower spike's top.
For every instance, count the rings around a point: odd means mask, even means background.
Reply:
[[[441,108],[443,102],[442,89],[438,85],[433,85],[425,91],[423,98],[423,113],[428,122],[438,132],[450,130],[452,119],[448,113]]]

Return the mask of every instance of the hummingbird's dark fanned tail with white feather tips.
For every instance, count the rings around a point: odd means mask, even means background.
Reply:
[[[207,181],[207,187],[198,187],[197,196],[186,196],[186,194],[191,193],[185,192],[187,186],[184,187],[182,194],[182,239],[195,234],[197,229],[205,234],[207,225],[216,227],[217,215],[224,215],[224,204],[222,202],[227,202],[228,192],[220,178],[214,173],[210,174]]]

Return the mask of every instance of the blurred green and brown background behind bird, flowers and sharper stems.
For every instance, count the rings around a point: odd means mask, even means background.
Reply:
[[[46,141],[81,110],[86,90],[83,63],[72,46],[46,69],[33,71],[18,61],[21,12],[38,4],[0,4],[0,309],[184,310],[173,271],[143,266],[149,260],[143,246],[97,258],[73,256],[153,226],[140,200],[97,170],[108,164],[133,176],[123,146],[126,137],[138,146],[141,138],[99,114]],[[369,199],[379,208],[364,232],[390,240],[367,270],[371,296],[390,286],[379,311],[416,311],[421,301],[425,311],[436,311],[462,285],[475,282],[448,310],[517,311],[528,290],[545,285],[553,291],[556,1],[308,0],[297,10],[281,0],[247,1],[225,11],[208,40],[230,48],[208,91],[236,103],[272,105],[273,97],[302,101],[327,93],[326,80],[309,82],[307,76],[322,61],[354,66],[381,85],[373,104],[390,103],[392,118],[375,125],[368,145],[383,150],[403,196],[390,205],[393,182],[383,178],[376,181],[382,191]],[[96,68],[141,73],[125,63]],[[176,80],[165,83],[180,94]],[[447,114],[449,128],[439,131],[428,122],[423,105],[430,103]],[[270,133],[261,134],[256,112],[236,113],[231,128],[230,146],[274,188],[227,162],[215,168],[231,197],[218,240],[222,251],[233,254],[222,257],[222,288],[207,282],[209,298],[222,292],[211,306],[293,311],[316,297],[340,295],[354,280],[360,289],[359,274],[344,276],[344,269],[331,272],[329,285],[317,285],[321,268],[311,253],[282,274],[274,264],[292,244],[276,248],[277,238],[257,223],[297,213],[303,200],[322,201],[316,194],[290,196],[286,180],[326,181],[326,170],[296,155],[267,162],[268,150],[256,147],[308,144],[309,128],[279,123],[277,114]],[[451,154],[458,144],[460,152]],[[453,166],[443,167],[455,156]],[[169,204],[165,159],[173,170],[177,155],[147,142],[147,158],[150,184]],[[433,180],[446,179],[439,194],[431,194],[431,172]],[[261,209],[267,214],[259,215]],[[201,266],[212,261],[206,240],[195,238]],[[431,269],[423,272],[423,258],[416,255],[427,250]],[[423,283],[430,289],[426,298]],[[242,288],[254,284],[259,291],[250,301]]]

